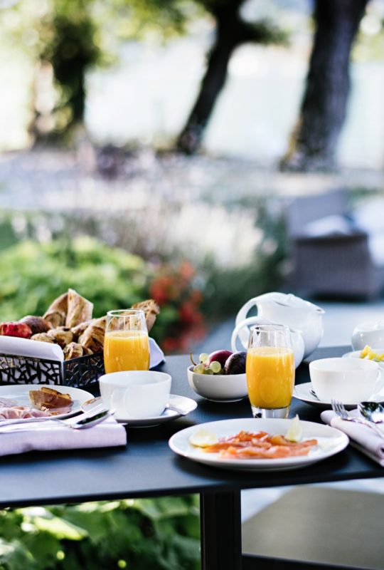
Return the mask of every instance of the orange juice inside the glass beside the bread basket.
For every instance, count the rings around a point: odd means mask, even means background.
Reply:
[[[111,331],[104,339],[105,372],[149,370],[149,341],[146,331]]]

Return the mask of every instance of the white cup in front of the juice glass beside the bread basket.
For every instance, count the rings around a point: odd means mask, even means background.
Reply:
[[[99,378],[106,408],[117,418],[156,418],[164,412],[171,392],[171,376],[155,371],[122,371]]]

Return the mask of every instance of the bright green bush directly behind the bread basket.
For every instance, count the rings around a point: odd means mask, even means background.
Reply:
[[[95,305],[94,316],[146,298],[151,268],[122,249],[95,239],[26,241],[0,255],[0,319],[42,315],[57,296],[73,287]]]

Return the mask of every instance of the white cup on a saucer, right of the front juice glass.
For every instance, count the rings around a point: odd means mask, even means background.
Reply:
[[[323,402],[358,404],[383,385],[378,363],[360,358],[322,358],[309,363],[309,375]]]

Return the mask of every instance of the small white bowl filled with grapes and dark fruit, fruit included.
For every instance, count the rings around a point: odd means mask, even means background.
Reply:
[[[199,362],[188,368],[188,383],[192,390],[212,402],[237,402],[247,395],[245,351],[215,351],[203,353]]]

